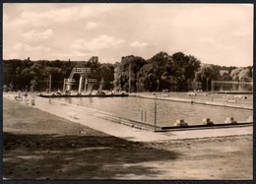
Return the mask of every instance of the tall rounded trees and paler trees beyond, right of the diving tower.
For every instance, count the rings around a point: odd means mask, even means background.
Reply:
[[[122,57],[115,67],[114,84],[128,91],[130,83],[132,92],[210,91],[212,81],[248,82],[252,80],[252,72],[252,66],[204,64],[182,52],[172,55],[159,52],[148,60],[133,55]]]

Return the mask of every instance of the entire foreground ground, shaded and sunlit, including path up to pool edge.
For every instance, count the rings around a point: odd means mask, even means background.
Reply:
[[[252,179],[251,127],[159,134],[47,105],[4,97],[5,178]]]

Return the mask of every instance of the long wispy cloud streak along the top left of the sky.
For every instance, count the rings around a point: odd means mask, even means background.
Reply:
[[[64,4],[62,6],[38,4],[37,6],[28,6],[28,4],[24,4],[19,5],[19,8],[23,10],[20,16],[16,19],[10,19],[7,22],[8,26],[17,28],[24,26],[45,26],[54,23],[65,24],[99,16],[111,11],[113,6],[94,6],[90,4],[80,4],[77,6],[72,6],[71,4]],[[4,12],[5,14],[10,13],[8,9],[4,10]]]

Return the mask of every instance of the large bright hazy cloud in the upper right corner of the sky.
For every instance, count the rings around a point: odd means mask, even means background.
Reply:
[[[251,10],[250,10],[251,11]],[[172,19],[173,27],[205,29],[229,27],[248,21],[248,10],[242,6],[200,5],[191,6],[187,11],[180,11]]]

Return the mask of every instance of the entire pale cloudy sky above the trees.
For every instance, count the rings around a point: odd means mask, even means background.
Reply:
[[[3,59],[120,62],[183,52],[202,63],[253,64],[252,4],[5,3]]]

